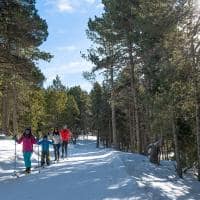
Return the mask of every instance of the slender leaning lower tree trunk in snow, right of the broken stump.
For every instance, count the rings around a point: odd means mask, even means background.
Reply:
[[[178,135],[177,135],[177,130],[176,130],[174,113],[172,113],[172,133],[173,133],[174,145],[175,145],[176,171],[177,171],[178,176],[182,178],[183,174],[182,174],[182,166],[181,166],[181,160],[180,160],[180,149],[179,149],[179,142],[178,142]]]

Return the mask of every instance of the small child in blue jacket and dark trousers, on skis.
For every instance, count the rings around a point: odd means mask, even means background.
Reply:
[[[49,156],[49,145],[53,144],[52,141],[48,140],[47,135],[44,135],[41,140],[38,141],[38,145],[42,145],[42,156],[41,156],[41,166],[43,167],[46,161],[47,165],[50,165]]]

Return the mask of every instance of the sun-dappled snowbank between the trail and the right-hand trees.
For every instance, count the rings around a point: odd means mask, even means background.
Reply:
[[[191,178],[178,178],[173,163],[162,161],[156,166],[138,154],[120,153],[119,157],[138,187],[149,194],[146,199],[200,199],[200,183]]]

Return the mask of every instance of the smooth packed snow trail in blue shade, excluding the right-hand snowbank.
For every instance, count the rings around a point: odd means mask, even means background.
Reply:
[[[129,199],[133,184],[119,163],[112,151],[96,150],[94,142],[83,142],[68,160],[40,174],[1,183],[1,199]]]

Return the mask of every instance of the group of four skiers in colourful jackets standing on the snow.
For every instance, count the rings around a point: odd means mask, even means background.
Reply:
[[[18,144],[22,143],[22,151],[24,157],[24,164],[26,167],[25,172],[30,173],[31,171],[31,155],[33,153],[33,145],[38,144],[42,146],[41,150],[41,166],[46,163],[50,165],[50,154],[49,146],[54,147],[54,161],[59,161],[60,159],[60,148],[62,149],[62,158],[68,156],[68,143],[72,137],[71,131],[65,125],[61,131],[55,128],[53,132],[49,132],[44,135],[41,139],[36,139],[32,134],[31,128],[26,128],[22,136],[16,139]],[[39,152],[38,152],[39,153]]]

